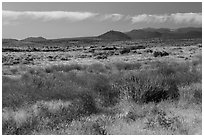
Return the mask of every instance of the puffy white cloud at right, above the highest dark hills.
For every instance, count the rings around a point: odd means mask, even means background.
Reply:
[[[147,22],[147,23],[165,23],[173,22],[176,24],[202,24],[202,13],[174,13],[163,15],[148,15],[141,14],[130,17],[132,23]]]

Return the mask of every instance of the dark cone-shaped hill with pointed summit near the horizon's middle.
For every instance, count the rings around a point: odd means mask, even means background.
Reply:
[[[130,40],[131,38],[127,36],[125,33],[122,33],[120,31],[108,31],[100,36],[98,38],[102,40]]]

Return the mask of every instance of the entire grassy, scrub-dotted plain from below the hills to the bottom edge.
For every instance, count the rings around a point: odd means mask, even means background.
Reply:
[[[2,133],[202,134],[201,46],[128,44],[5,52]],[[154,55],[161,50],[168,55]],[[12,64],[16,58],[20,63]]]

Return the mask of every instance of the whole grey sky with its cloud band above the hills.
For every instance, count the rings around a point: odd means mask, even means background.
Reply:
[[[72,38],[109,30],[201,26],[201,2],[2,3],[3,38]]]

